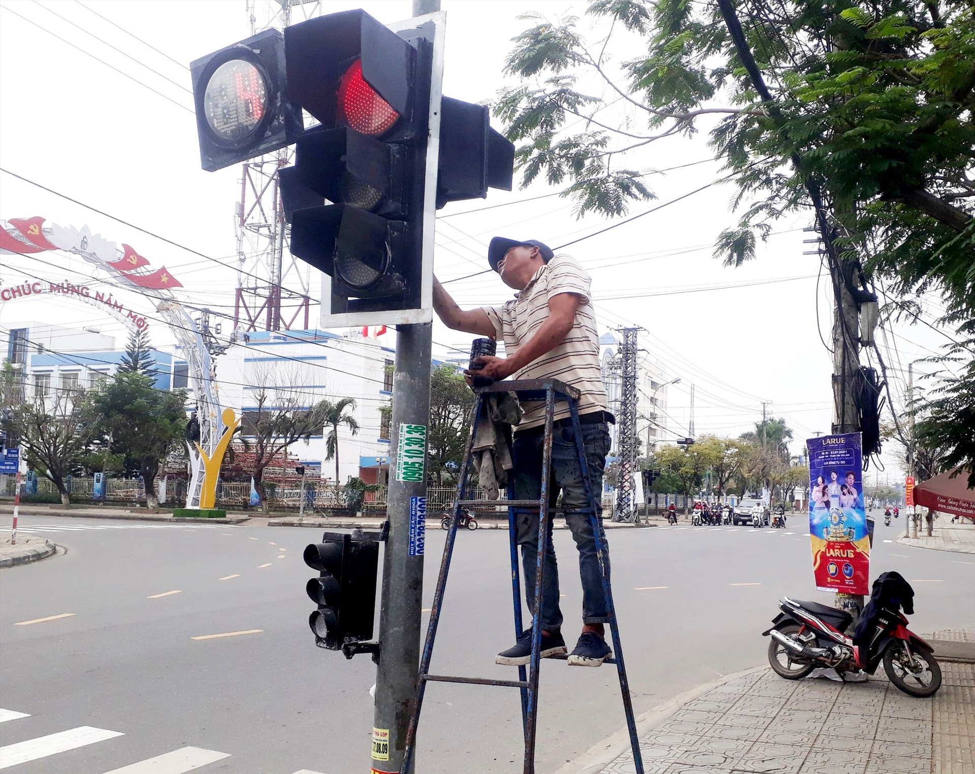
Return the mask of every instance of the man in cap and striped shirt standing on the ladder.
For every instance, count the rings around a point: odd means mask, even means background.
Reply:
[[[554,255],[536,240],[520,242],[494,237],[487,248],[487,262],[515,297],[498,307],[462,310],[447,290],[434,279],[433,305],[437,315],[451,329],[464,330],[504,341],[504,358],[482,357],[479,376],[500,380],[559,379],[579,390],[578,410],[582,442],[590,479],[590,491],[603,491],[605,455],[609,451],[610,422],[600,368],[599,335],[590,297],[590,278],[579,263],[567,255]],[[467,371],[468,379],[473,372]],[[537,499],[541,490],[544,402],[523,406],[525,415],[515,428],[512,456],[511,499]],[[579,459],[567,407],[555,413],[552,445],[552,491],[562,492],[565,522],[579,551],[582,579],[582,634],[568,656],[572,666],[598,667],[612,653],[604,639],[604,623],[610,621],[602,586],[591,505],[586,497]],[[553,500],[554,501],[554,500]],[[606,576],[609,557],[603,532],[602,509],[597,521],[604,546]],[[525,597],[533,608],[535,562],[538,552],[538,510],[515,509],[518,544],[522,546]],[[565,653],[562,610],[559,607],[559,570],[552,547],[552,522],[548,522],[545,568],[541,592],[541,656]],[[498,653],[495,662],[527,664],[531,656],[531,631]]]

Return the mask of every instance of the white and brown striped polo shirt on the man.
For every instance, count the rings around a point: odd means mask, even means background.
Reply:
[[[600,343],[590,299],[591,280],[575,258],[556,255],[535,272],[525,290],[502,306],[483,307],[494,326],[496,338],[504,341],[505,355],[514,355],[549,316],[549,299],[559,293],[582,296],[572,329],[565,341],[538,360],[512,374],[513,379],[559,379],[579,390],[579,413],[606,410],[606,392],[600,368]],[[559,406],[563,406],[560,410]],[[517,430],[545,423],[545,403],[525,402],[525,416]],[[556,404],[556,419],[569,415],[565,403]]]

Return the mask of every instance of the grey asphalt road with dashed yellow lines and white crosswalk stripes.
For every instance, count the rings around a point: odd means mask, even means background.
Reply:
[[[6,517],[0,529],[9,525]],[[872,566],[915,585],[912,629],[971,626],[975,557],[887,542],[903,528],[878,520]],[[314,573],[301,552],[318,530],[34,517],[20,530],[67,554],[0,571],[0,707],[26,715],[0,712],[0,745],[13,746],[0,750],[0,768],[17,754],[35,757],[11,765],[16,774],[173,774],[189,764],[133,764],[190,746],[199,751],[179,755],[206,763],[206,774],[368,770],[374,667],[316,648],[307,627],[304,585]],[[813,590],[805,532],[798,518],[785,530],[610,532],[638,714],[764,663],[760,633],[781,595],[829,600]],[[428,533],[428,604],[444,534]],[[571,621],[581,605],[574,546],[565,530],[555,534]],[[433,671],[514,677],[493,663],[513,639],[507,532],[459,534],[452,567]],[[566,624],[570,646],[574,630]],[[519,712],[511,688],[431,684],[417,770],[520,771]],[[544,662],[540,773],[623,724],[611,666]],[[75,730],[84,727],[101,731]]]

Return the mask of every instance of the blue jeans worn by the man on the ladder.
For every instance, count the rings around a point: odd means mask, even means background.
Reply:
[[[532,500],[541,496],[542,448],[544,428],[531,428],[515,433],[512,445],[513,477],[508,496],[511,499]],[[596,518],[603,542],[603,561],[609,576],[609,553],[603,528],[603,471],[609,451],[609,428],[605,422],[582,425],[582,445],[586,454],[590,491],[596,499]],[[552,546],[552,517],[556,499],[562,492],[560,510],[572,532],[579,551],[579,576],[582,579],[582,620],[586,624],[606,623],[609,611],[603,594],[600,561],[596,556],[596,535],[593,530],[593,504],[586,497],[586,489],[579,466],[575,436],[571,427],[555,428],[552,438],[552,476],[549,483],[548,537],[542,573],[541,625],[548,632],[562,627],[559,608],[559,565]],[[535,563],[538,557],[538,509],[516,508],[515,522],[518,544],[522,547],[523,582],[528,609],[534,609]]]

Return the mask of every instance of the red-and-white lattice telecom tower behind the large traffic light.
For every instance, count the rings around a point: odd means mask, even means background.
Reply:
[[[322,14],[322,0],[247,0],[251,34],[292,23],[292,10],[303,21]],[[288,250],[289,226],[281,205],[278,170],[288,165],[293,150],[245,162],[237,227],[237,293],[234,334],[250,330],[307,329],[311,294],[308,265]]]

